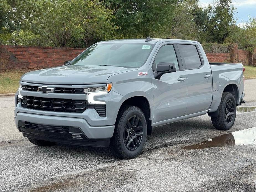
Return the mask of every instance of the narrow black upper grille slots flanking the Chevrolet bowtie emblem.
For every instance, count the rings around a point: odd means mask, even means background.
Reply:
[[[25,91],[37,91],[38,86],[32,85],[21,85],[22,90]],[[50,86],[54,87],[54,85]],[[68,94],[85,94],[84,88],[73,88],[73,87],[56,87],[54,93],[68,93]]]

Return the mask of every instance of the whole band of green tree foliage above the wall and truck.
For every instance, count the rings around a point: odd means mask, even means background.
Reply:
[[[88,47],[117,38],[256,44],[255,18],[235,25],[232,0],[1,0],[0,43]],[[215,45],[215,44],[214,44]]]

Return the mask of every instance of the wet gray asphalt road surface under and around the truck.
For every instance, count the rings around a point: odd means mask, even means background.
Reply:
[[[243,106],[256,107],[256,79],[245,92]],[[256,112],[238,113],[229,131],[207,115],[161,126],[141,155],[120,160],[108,148],[35,146],[15,128],[13,110],[14,99],[0,97],[0,191],[256,191],[255,144],[182,149],[256,127]]]

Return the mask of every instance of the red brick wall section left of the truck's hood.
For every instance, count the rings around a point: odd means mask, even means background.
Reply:
[[[0,69],[60,66],[84,50],[85,48],[1,45]]]

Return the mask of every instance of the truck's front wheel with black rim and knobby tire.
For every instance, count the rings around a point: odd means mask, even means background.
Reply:
[[[132,131],[134,134],[131,134]],[[146,137],[147,123],[141,109],[135,106],[123,107],[118,113],[115,131],[111,141],[115,154],[121,159],[136,157],[142,151]]]

